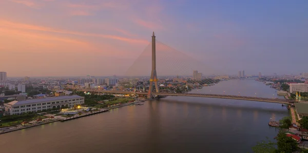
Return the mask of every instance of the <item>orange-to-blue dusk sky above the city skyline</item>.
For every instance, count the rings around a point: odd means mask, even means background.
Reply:
[[[308,72],[305,0],[0,0],[0,71],[123,75],[153,31],[221,74]]]

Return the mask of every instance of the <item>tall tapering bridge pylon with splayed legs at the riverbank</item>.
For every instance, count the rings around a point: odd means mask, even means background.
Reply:
[[[152,35],[152,71],[151,71],[149,92],[147,98],[152,98],[153,84],[155,85],[156,92],[159,92],[158,78],[156,73],[156,36],[154,32]]]

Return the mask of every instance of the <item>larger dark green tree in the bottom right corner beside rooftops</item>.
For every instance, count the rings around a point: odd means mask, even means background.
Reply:
[[[280,130],[277,135],[278,152],[293,152],[297,150],[297,142],[291,137],[287,137],[283,130]]]

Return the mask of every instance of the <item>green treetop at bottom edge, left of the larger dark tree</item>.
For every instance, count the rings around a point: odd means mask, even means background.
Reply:
[[[276,152],[276,143],[266,137],[266,141],[263,140],[258,142],[256,146],[253,147],[254,152],[258,153],[275,153]]]

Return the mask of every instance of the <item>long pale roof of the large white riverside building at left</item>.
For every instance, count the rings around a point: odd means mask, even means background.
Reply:
[[[52,98],[43,98],[43,99],[31,99],[26,101],[12,101],[9,102],[9,105],[24,105],[30,103],[40,103],[40,102],[47,102],[47,101],[57,101],[57,100],[66,100],[66,99],[73,99],[73,98],[83,98],[79,95],[64,95],[59,97],[52,97]]]

